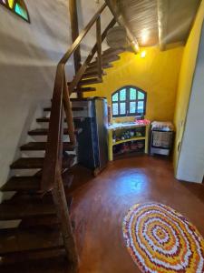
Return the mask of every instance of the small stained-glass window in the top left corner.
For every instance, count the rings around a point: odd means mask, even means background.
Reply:
[[[30,23],[30,17],[24,0],[0,0],[0,4]]]

